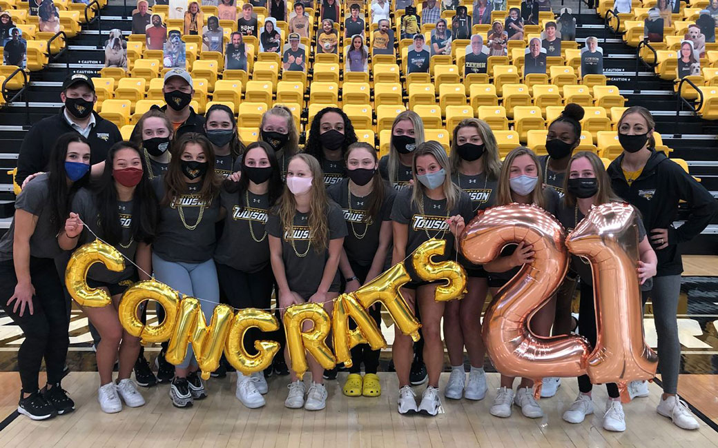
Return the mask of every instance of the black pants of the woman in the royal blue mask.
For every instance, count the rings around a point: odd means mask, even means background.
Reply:
[[[12,260],[0,262],[0,302],[5,313],[22,328],[25,340],[17,351],[17,368],[20,371],[23,391],[31,394],[39,389],[39,371],[45,358],[47,382],[60,383],[65,367],[67,347],[70,345],[70,324],[67,320],[67,302],[55,262],[49,258],[30,257],[30,281],[35,288],[32,296],[34,312],[25,308],[22,317],[12,310],[16,302],[7,305],[15,292],[17,277]]]

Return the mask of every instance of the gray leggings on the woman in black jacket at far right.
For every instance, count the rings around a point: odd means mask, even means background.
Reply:
[[[681,342],[678,338],[678,318],[676,316],[678,315],[680,293],[680,275],[653,277],[653,289],[650,292],[650,297],[653,302],[653,320],[656,323],[656,333],[658,334],[658,368],[661,370],[663,392],[666,394],[678,393]]]

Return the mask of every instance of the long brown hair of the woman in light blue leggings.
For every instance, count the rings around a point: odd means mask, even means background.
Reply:
[[[202,147],[207,159],[207,172],[199,182],[200,191],[197,193],[205,204],[215,199],[220,192],[220,177],[215,173],[215,152],[212,151],[212,143],[200,133],[190,132],[182,134],[172,145],[172,159],[169,161],[167,173],[164,174],[164,198],[161,206],[169,206],[172,201],[182,194],[187,194],[187,178],[182,173],[182,152],[190,143]]]

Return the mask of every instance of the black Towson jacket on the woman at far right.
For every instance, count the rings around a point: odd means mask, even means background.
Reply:
[[[681,166],[663,153],[652,151],[640,176],[631,186],[621,168],[623,154],[611,162],[608,175],[613,191],[638,208],[650,237],[652,229],[668,229],[668,247],[656,250],[657,276],[678,275],[683,272],[678,244],[700,234],[718,211],[718,202]],[[678,215],[678,204],[684,200],[690,207],[688,220],[678,229],[673,221]]]

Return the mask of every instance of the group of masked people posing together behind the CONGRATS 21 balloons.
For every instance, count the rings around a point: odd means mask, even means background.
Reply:
[[[422,345],[398,330],[392,345],[398,412],[433,416],[442,402],[444,343],[451,363],[444,396],[481,400],[487,395],[482,308],[489,292],[495,297],[521,265],[533,261],[531,245],[521,243],[478,266],[455,252],[455,235],[477,211],[495,205],[534,204],[570,230],[592,206],[628,201],[642,216],[635,281],[642,285],[643,300],[651,297],[656,319],[663,381],[658,413],[681,428],[698,427],[676,395],[681,356],[676,321],[679,243],[699,234],[718,204],[656,151],[656,125],[648,110],[628,108],[620,118],[618,138],[624,151],[607,170],[594,153],[574,151],[583,117],[582,108],[574,104],[550,123],[546,156],[521,146],[500,161],[489,126],[474,118],[452,130],[447,153],[440,143],[424,140],[421,118],[405,111],[391,126],[388,155],[378,158],[373,145],[358,142],[351,120],[338,108],[314,116],[304,148],[299,147],[292,113],[281,105],[262,117],[258,141],[242,142],[232,110],[214,105],[204,117],[192,110],[194,89],[185,70],[167,72],[164,81],[167,105],[145,113],[131,141],[121,140],[117,129],[93,112],[93,83],[79,74],[65,80],[60,114],[34,125],[24,140],[18,162],[24,187],[13,224],[0,240],[0,302],[24,333],[18,351],[21,414],[45,419],[74,409],[61,386],[70,301],[60,279],[73,250],[95,235],[131,261],[123,272],[101,265],[88,272],[88,285],[105,290],[113,300],[106,308],[83,308],[98,333],[98,401],[105,412],[121,411],[123,403],[143,405],[138,383],[169,383],[172,404],[180,408],[207,396],[191,348],[182,363],[172,366],[164,345],[154,373],[138,338],[123,330],[117,309],[132,282],[154,275],[181,295],[200,298],[205,318],[219,302],[238,309],[269,309],[273,291],[279,315],[304,302],[320,303],[331,312],[341,292],[357,290],[389,266],[404,262],[427,240],[445,239],[447,253],[434,259],[458,257],[468,276],[467,294],[462,300],[435,301],[437,282],[421,281],[407,263],[412,280],[402,294],[421,320]],[[47,173],[37,174],[42,171]],[[679,201],[686,202],[689,217],[674,228]],[[578,325],[579,334],[595,343],[591,282],[588,265],[573,257],[559,291],[533,316],[532,330],[549,336],[569,333]],[[577,288],[580,313],[575,323],[571,302]],[[380,323],[378,306],[369,311]],[[157,316],[164,318],[159,306]],[[252,351],[261,336],[269,335],[248,333],[246,348]],[[281,333],[275,336],[281,340]],[[416,347],[425,378],[414,374]],[[43,358],[47,385],[40,389]],[[352,358],[343,393],[381,394],[379,351],[358,345]],[[119,371],[113,378],[116,360]],[[266,376],[288,373],[281,360],[291,366],[285,350],[276,356],[275,368],[264,374],[236,374],[236,396],[245,406],[264,406]],[[326,406],[325,379],[337,378],[337,371],[325,371],[311,356],[308,361],[311,381],[291,373],[284,403],[289,408]],[[226,367],[213,376],[226,376]],[[543,416],[531,379],[521,378],[514,391],[515,379],[501,376],[490,413],[508,417],[515,404],[524,416]],[[424,381],[417,403],[412,385]],[[578,381],[580,393],[563,414],[572,423],[594,411],[589,378]],[[542,396],[548,397],[561,379],[544,378],[543,383]],[[623,431],[617,386],[608,384],[607,389],[603,426]],[[629,392],[647,396],[647,383],[630,383]]]

